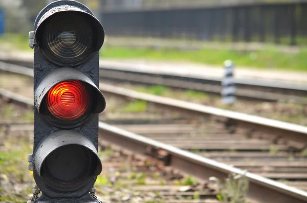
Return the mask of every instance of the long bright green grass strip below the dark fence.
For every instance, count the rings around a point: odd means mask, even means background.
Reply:
[[[121,47],[104,47],[101,50],[104,58],[142,58],[152,60],[186,61],[203,64],[222,66],[229,59],[236,66],[250,66],[261,69],[283,69],[307,71],[307,49],[298,53],[284,53],[278,50],[267,49],[263,51],[234,51],[234,50],[212,50],[180,51],[175,49],[129,49]]]

